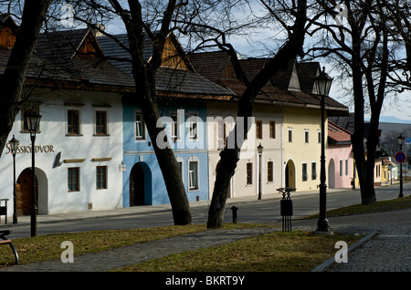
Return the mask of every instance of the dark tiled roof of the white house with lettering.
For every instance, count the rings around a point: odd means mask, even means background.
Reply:
[[[77,53],[86,37],[95,39],[90,29],[40,34],[26,82],[51,87],[58,83],[59,88],[96,89],[99,86],[98,89],[120,91],[134,88],[133,79],[118,67],[100,57]],[[10,48],[0,47],[0,74],[5,71],[10,53]]]

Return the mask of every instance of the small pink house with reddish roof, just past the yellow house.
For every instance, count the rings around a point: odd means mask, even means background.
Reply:
[[[327,146],[329,188],[351,188],[353,179],[353,147],[351,133],[328,122]]]

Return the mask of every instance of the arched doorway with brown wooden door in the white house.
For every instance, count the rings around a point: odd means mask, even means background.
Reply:
[[[35,176],[36,184],[37,176]],[[29,215],[31,211],[32,170],[22,171],[16,182],[17,215]],[[38,204],[38,186],[36,186],[36,204]]]

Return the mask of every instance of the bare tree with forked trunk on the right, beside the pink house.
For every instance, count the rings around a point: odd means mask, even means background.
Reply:
[[[353,153],[362,203],[371,204],[375,202],[373,176],[377,130],[387,94],[390,63],[395,62],[390,51],[396,47],[395,37],[398,36],[397,30],[393,35],[394,25],[389,26],[387,11],[391,4],[361,0],[342,1],[339,5],[335,1],[318,3],[319,10],[311,12],[317,19],[311,21],[318,27],[312,35],[319,36],[320,40],[309,49],[308,54],[313,57],[329,57],[340,65],[342,72],[348,76],[347,79],[352,80],[355,112]],[[339,11],[336,10],[337,7],[343,9]],[[371,112],[368,136],[364,136],[365,109]],[[366,158],[364,150],[367,152]]]

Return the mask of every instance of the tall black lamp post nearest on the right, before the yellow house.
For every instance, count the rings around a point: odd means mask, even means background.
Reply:
[[[325,96],[330,93],[332,78],[325,73],[322,67],[320,75],[314,78],[317,94],[321,96],[321,172],[320,172],[320,219],[316,232],[330,232],[330,225],[326,216],[327,185],[325,184]]]

